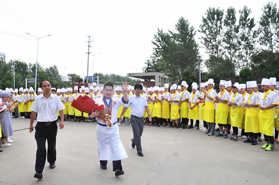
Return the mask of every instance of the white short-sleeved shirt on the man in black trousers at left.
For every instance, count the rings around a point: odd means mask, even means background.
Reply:
[[[61,100],[55,94],[50,93],[48,99],[43,94],[37,96],[34,103],[30,107],[31,111],[37,112],[37,120],[39,122],[52,122],[57,120],[57,110],[65,109]]]

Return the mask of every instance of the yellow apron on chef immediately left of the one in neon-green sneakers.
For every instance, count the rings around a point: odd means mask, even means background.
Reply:
[[[245,132],[259,133],[259,112],[258,109],[247,108],[245,114]]]

